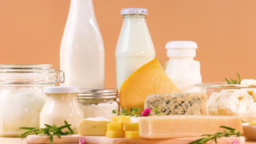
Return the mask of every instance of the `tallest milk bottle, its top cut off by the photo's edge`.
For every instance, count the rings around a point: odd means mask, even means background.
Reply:
[[[64,85],[104,88],[104,46],[92,0],[71,0],[60,49]]]

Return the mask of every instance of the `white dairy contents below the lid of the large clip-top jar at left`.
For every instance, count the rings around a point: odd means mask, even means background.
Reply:
[[[0,136],[18,136],[19,127],[39,127],[45,95],[41,88],[0,90]]]

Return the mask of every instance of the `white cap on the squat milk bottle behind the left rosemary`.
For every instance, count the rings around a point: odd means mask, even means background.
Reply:
[[[44,93],[78,93],[78,86],[53,86],[44,87]]]

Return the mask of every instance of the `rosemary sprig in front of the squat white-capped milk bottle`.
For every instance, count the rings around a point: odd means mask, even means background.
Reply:
[[[61,135],[71,135],[74,134],[74,129],[71,129],[71,124],[68,124],[67,121],[64,121],[65,125],[57,127],[56,125],[44,124],[45,128],[30,128],[30,127],[21,127],[19,129],[26,129],[27,131],[18,137],[23,137],[24,139],[27,135],[49,135],[50,144],[53,144],[53,136],[57,136],[61,139]],[[67,128],[69,131],[63,132],[62,129]]]

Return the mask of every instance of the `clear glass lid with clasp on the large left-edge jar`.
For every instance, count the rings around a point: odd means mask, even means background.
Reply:
[[[0,64],[0,85],[48,85],[64,82],[63,71],[51,64]]]

